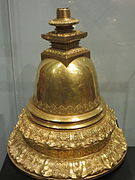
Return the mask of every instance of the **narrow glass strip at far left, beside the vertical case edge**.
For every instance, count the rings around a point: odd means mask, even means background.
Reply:
[[[0,168],[6,155],[7,139],[17,120],[13,64],[10,46],[8,4],[0,1]]]

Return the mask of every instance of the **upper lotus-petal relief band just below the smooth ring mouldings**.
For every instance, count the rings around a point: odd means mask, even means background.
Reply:
[[[88,147],[91,144],[108,138],[116,126],[114,111],[107,108],[105,117],[96,124],[78,130],[55,130],[42,127],[32,122],[27,116],[25,109],[19,116],[17,128],[26,139],[35,141],[42,146],[56,149],[70,149]]]

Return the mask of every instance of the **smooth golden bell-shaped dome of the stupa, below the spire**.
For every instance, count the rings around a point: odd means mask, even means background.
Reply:
[[[67,67],[57,59],[44,59],[37,73],[34,104],[60,115],[82,114],[100,104],[97,78],[88,57],[78,57]]]

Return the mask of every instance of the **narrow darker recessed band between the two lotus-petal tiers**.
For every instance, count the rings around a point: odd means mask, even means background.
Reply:
[[[110,136],[106,139],[100,140],[98,143],[91,144],[88,147],[59,149],[56,147],[50,148],[39,143],[37,144],[37,142],[34,142],[33,140],[25,139],[26,143],[36,151],[52,158],[61,158],[64,160],[70,158],[80,158],[92,153],[96,153],[97,151],[100,151],[102,148],[104,148],[109,140]]]

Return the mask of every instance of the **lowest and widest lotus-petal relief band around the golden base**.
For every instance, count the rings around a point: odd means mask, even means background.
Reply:
[[[125,137],[117,127],[101,151],[82,158],[62,160],[40,154],[27,145],[17,129],[12,132],[8,143],[8,153],[14,164],[39,179],[50,176],[62,179],[91,178],[104,174],[123,160],[126,151]]]

